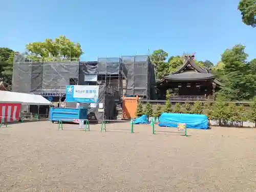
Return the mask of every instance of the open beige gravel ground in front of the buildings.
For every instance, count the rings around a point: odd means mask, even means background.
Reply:
[[[129,123],[0,128],[0,191],[255,191],[256,129]],[[161,132],[160,132],[161,131]]]

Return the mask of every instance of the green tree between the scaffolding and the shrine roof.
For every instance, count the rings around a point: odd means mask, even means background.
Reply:
[[[151,55],[151,60],[155,65],[155,73],[158,79],[168,74],[168,63],[165,62],[168,53],[162,49],[155,50]]]

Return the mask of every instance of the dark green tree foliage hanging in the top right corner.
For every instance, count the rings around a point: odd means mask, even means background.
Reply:
[[[241,11],[243,23],[256,27],[256,2],[255,0],[241,0],[238,5]]]

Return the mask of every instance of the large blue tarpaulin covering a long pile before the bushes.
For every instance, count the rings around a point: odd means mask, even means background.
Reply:
[[[177,127],[177,123],[186,123],[192,129],[208,129],[207,116],[200,114],[162,113],[158,125]]]

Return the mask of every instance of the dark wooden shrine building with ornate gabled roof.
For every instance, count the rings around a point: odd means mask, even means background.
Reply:
[[[171,99],[214,99],[214,93],[224,85],[215,79],[216,75],[195,63],[195,54],[184,54],[183,58],[183,65],[177,71],[156,83],[158,99],[165,99],[168,89]]]

